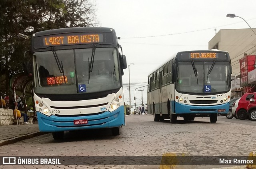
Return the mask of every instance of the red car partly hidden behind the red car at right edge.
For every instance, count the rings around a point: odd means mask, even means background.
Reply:
[[[254,93],[245,93],[242,95],[238,102],[238,107],[236,108],[236,115],[240,120],[247,119],[247,107],[250,104],[250,99]]]

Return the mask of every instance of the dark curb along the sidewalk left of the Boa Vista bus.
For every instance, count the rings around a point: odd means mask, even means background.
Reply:
[[[33,137],[44,135],[44,134],[48,134],[48,133],[41,132],[41,131],[36,131],[36,132],[29,133],[29,134],[26,134],[26,135],[22,135],[22,136],[18,136],[18,137],[13,137],[11,139],[0,140],[0,146],[17,143],[18,141],[22,141],[22,140],[26,140],[26,139],[31,139]]]

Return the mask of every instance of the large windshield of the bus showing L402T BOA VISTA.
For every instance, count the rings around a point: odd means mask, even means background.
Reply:
[[[116,48],[96,48],[92,64],[92,48],[56,50],[63,72],[52,51],[34,53],[35,93],[93,93],[120,87]]]

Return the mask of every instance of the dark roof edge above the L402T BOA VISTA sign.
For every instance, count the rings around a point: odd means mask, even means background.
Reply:
[[[111,30],[112,29],[112,30]],[[36,36],[46,36],[51,34],[63,34],[70,32],[114,32],[113,28],[105,28],[105,27],[76,27],[76,28],[60,28],[60,29],[52,29],[52,30],[44,30],[40,32],[36,32]]]

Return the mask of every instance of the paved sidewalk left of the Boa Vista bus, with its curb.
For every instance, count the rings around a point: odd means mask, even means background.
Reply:
[[[30,139],[46,134],[40,132],[38,123],[24,125],[0,125],[0,146],[16,143],[24,139]]]

